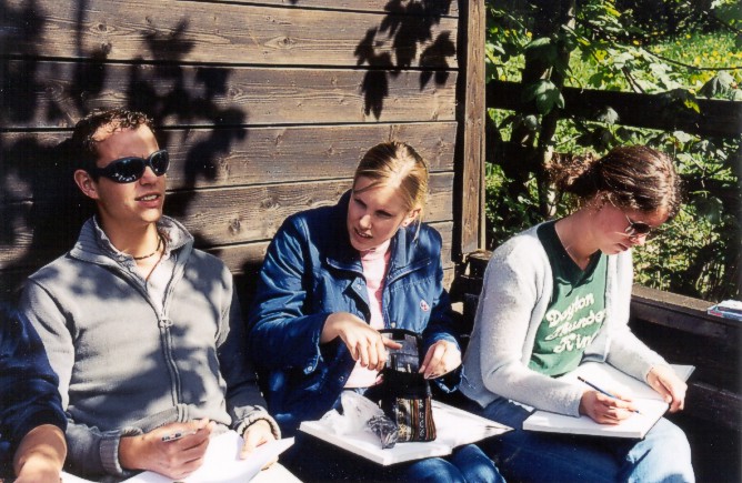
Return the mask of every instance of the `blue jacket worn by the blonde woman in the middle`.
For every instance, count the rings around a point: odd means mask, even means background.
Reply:
[[[334,312],[369,320],[369,300],[359,252],[349,241],[350,192],[334,207],[289,217],[271,242],[250,311],[250,354],[270,414],[285,435],[335,404],[354,361],[340,338],[320,344]],[[441,235],[417,224],[392,238],[383,289],[385,328],[457,343],[451,303],[443,289]],[[444,388],[450,390],[450,388]]]

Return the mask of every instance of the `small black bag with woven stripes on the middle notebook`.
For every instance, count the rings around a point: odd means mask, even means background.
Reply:
[[[399,442],[433,441],[435,423],[431,404],[430,384],[420,370],[423,354],[422,338],[404,329],[380,331],[402,344],[401,349],[389,349],[389,360],[382,370],[379,388],[381,409],[399,427]]]

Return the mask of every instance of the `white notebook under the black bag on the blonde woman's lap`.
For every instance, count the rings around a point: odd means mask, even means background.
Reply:
[[[382,449],[379,436],[370,431],[338,434],[322,420],[304,421],[299,430],[384,466],[422,457],[445,456],[457,446],[512,430],[438,401],[432,404],[437,432],[434,441],[397,443],[394,447]]]

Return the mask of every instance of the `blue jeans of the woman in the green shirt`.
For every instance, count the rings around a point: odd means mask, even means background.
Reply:
[[[473,407],[477,406],[477,407]],[[643,440],[523,431],[529,411],[507,400],[468,407],[512,426],[480,443],[508,480],[519,482],[694,482],[685,433],[661,419]]]

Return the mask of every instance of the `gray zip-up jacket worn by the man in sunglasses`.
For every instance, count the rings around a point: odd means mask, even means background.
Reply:
[[[208,417],[238,432],[267,420],[279,437],[247,358],[232,275],[193,249],[166,217],[174,270],[154,303],[123,254],[106,249],[93,219],[76,245],[31,275],[21,308],[60,379],[69,426],[68,463],[82,475],[129,475],[121,436]],[[116,259],[119,260],[116,260]]]

